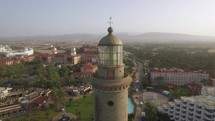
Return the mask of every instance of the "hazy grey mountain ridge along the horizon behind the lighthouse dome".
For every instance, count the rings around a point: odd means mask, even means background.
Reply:
[[[56,36],[20,36],[0,38],[0,41],[93,41],[98,42],[106,34],[65,34]],[[115,33],[125,42],[215,42],[215,36],[199,36],[177,33],[150,32],[142,34]]]

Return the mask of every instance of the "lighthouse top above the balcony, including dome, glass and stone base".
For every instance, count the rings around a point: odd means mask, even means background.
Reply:
[[[99,72],[98,76],[105,79],[124,77],[123,43],[114,36],[113,28],[108,28],[108,35],[99,44]]]

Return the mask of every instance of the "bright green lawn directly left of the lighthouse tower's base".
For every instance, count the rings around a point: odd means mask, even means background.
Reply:
[[[86,98],[81,98],[68,102],[65,108],[66,112],[74,113],[80,112],[80,121],[91,121],[92,116],[94,115],[94,96],[89,95]]]

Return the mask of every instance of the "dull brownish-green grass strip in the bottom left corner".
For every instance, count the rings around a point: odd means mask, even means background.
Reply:
[[[54,109],[39,109],[25,114],[21,114],[4,121],[51,121],[58,112]]]

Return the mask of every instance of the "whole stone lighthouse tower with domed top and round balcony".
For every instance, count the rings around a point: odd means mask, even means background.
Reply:
[[[123,43],[113,28],[99,44],[99,64],[92,84],[95,94],[95,121],[127,121],[130,76],[124,74]]]

